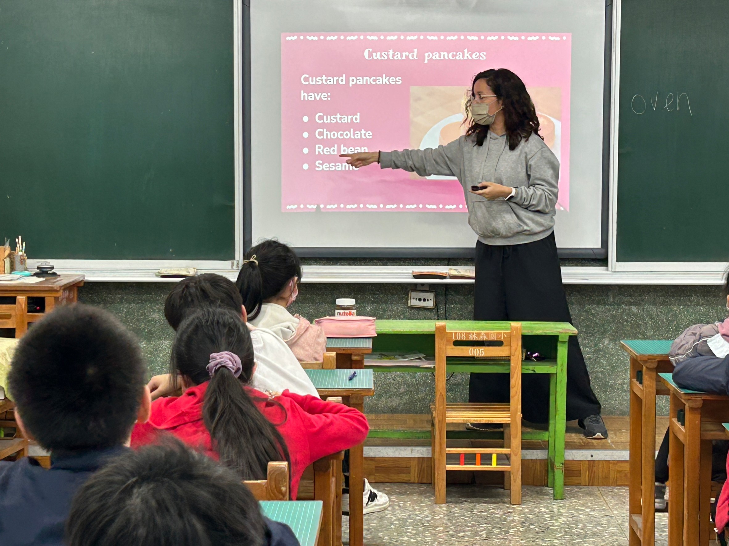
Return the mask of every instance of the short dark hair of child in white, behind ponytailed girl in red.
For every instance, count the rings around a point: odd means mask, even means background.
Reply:
[[[165,300],[165,319],[176,330],[184,317],[201,306],[230,309],[241,316],[243,299],[232,280],[214,273],[187,277],[178,282]]]

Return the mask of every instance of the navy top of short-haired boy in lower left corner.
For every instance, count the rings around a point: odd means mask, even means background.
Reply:
[[[63,526],[77,489],[125,447],[53,456],[50,470],[35,459],[0,462],[0,545],[63,545]]]

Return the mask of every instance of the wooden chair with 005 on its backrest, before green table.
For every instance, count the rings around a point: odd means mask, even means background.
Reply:
[[[484,342],[500,341],[499,347]],[[488,360],[510,360],[510,403],[448,404],[445,400],[445,371],[448,357],[476,357],[475,363],[489,365]],[[448,423],[504,424],[503,448],[448,448],[445,430]],[[509,472],[512,505],[521,505],[521,323],[512,323],[510,331],[447,331],[445,323],[435,325],[435,403],[432,406],[432,454],[435,503],[445,504],[447,470],[496,470]],[[460,464],[449,464],[448,454],[459,454]],[[474,454],[475,464],[465,464],[465,455]],[[481,464],[481,455],[490,454],[491,464]],[[500,454],[508,464],[497,464]],[[504,478],[504,485],[507,481]]]

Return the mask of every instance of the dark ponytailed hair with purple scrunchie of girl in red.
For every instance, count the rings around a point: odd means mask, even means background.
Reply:
[[[205,426],[220,461],[244,480],[265,479],[268,462],[289,460],[284,439],[243,389],[253,368],[251,333],[235,312],[203,307],[182,321],[172,345],[171,373],[194,385],[210,381]]]

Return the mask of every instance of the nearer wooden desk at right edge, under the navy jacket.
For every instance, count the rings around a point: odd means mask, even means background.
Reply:
[[[659,373],[668,388],[668,546],[706,546],[712,533],[712,440],[724,440],[729,397],[682,389],[673,374]]]

